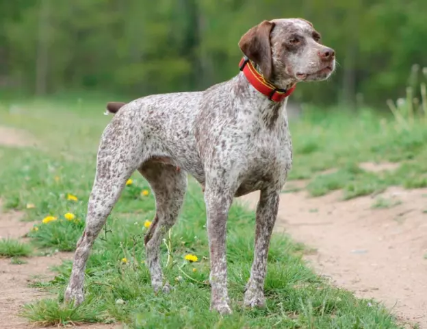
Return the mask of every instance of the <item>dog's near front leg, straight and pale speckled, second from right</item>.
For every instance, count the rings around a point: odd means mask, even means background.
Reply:
[[[211,260],[211,310],[220,314],[231,313],[227,291],[226,236],[227,217],[233,202],[231,193],[206,186],[207,234]]]

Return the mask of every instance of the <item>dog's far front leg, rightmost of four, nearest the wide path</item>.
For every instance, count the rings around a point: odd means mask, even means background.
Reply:
[[[255,252],[250,278],[244,294],[245,306],[264,306],[264,279],[267,271],[268,248],[279,209],[279,193],[262,190],[257,206],[255,229]]]

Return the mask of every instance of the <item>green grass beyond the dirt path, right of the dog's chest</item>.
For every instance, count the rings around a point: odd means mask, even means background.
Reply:
[[[309,180],[307,190],[318,197],[343,190],[344,199],[376,194],[388,186],[427,186],[426,121],[403,129],[390,116],[371,110],[328,114],[307,108],[305,119],[290,125],[294,164],[289,180]],[[399,162],[394,171],[370,172],[361,162]],[[334,171],[324,173],[328,169]],[[289,182],[290,184],[290,182]]]

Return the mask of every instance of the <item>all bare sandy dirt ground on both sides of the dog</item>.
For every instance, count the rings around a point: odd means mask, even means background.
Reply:
[[[25,132],[0,127],[0,145],[25,147],[34,138]],[[393,170],[396,164],[364,163],[365,170]],[[305,182],[289,182],[300,188]],[[373,197],[346,202],[340,192],[312,198],[307,192],[283,193],[276,232],[286,232],[315,252],[305,256],[318,273],[333,284],[374,298],[390,308],[402,323],[427,328],[427,189],[407,191],[389,188],[380,195],[391,200],[389,208],[372,208]],[[238,199],[255,207],[259,193]],[[376,197],[379,197],[378,195]],[[0,205],[1,208],[1,205]],[[21,221],[21,212],[0,212],[0,237],[22,239],[32,223]],[[12,265],[0,258],[0,328],[30,328],[18,317],[21,306],[44,296],[29,288],[31,278],[52,278],[49,270],[71,254],[27,258],[27,264]],[[74,328],[118,328],[79,326]]]

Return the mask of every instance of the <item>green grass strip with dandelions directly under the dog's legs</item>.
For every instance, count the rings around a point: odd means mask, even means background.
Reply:
[[[120,321],[130,328],[348,328],[354,321],[365,328],[398,328],[378,304],[357,300],[351,293],[328,286],[301,260],[300,246],[287,236],[274,236],[265,284],[267,308],[249,310],[241,305],[250,273],[254,245],[254,214],[235,204],[229,215],[227,260],[229,289],[235,313],[221,318],[209,311],[209,246],[205,237],[205,208],[200,188],[190,184],[179,223],[162,245],[161,258],[172,293],[158,295],[151,288],[144,263],[144,217],[109,218],[86,269],[86,298],[77,308],[63,304],[71,263],[58,268],[57,276],[44,284],[57,299],[25,306],[23,315],[34,322],[57,325],[71,322]],[[121,204],[138,202],[120,199]],[[143,210],[151,212],[153,203]],[[46,230],[56,230],[52,221]],[[40,229],[41,230],[41,229]],[[38,232],[40,232],[37,231]],[[49,243],[49,239],[47,239]],[[55,243],[52,244],[56,246]],[[170,249],[171,260],[165,266]],[[198,261],[184,260],[196,254]],[[40,286],[41,287],[41,286]]]

